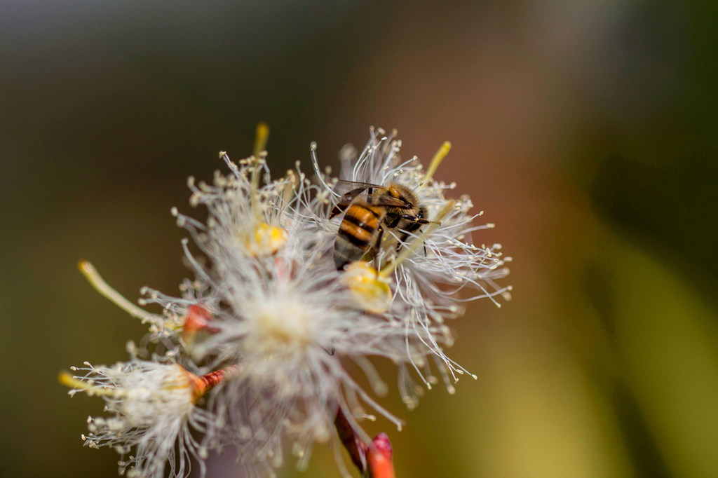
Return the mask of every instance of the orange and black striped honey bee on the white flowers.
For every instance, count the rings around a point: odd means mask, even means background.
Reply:
[[[334,206],[331,217],[344,211],[334,240],[334,263],[340,271],[350,262],[359,261],[370,250],[377,259],[384,230],[396,230],[399,247],[419,230],[426,220],[426,208],[416,194],[404,184],[386,186],[342,181],[336,191],[346,190]]]

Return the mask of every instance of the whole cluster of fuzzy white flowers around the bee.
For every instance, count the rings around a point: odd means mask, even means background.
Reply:
[[[221,153],[229,174],[217,172],[211,184],[190,178],[190,204],[208,217],[172,210],[192,238],[182,247],[194,277],[179,297],[144,289],[141,304],[159,304],[161,314],[129,303],[81,263],[98,291],[149,323],[145,343],[164,353],[78,369],[86,375],[75,377],[75,388],[100,395],[111,414],[90,421],[90,446],[130,454],[121,471],[131,467],[137,476],[162,477],[166,466],[170,476],[185,476],[190,455],[202,463],[208,450],[228,447],[249,474],[271,476],[285,449],[302,469],[314,444],[331,442],[346,475],[337,413],[359,437],[358,421],[373,414],[401,428],[376,401],[388,387],[371,360],[397,365],[399,391],[411,407],[423,390],[415,379],[427,387],[437,381],[431,362],[453,390],[465,370],[445,353],[453,338],[444,320],[459,317],[468,300],[508,299],[509,289],[495,283],[508,258],[498,244],[472,243],[471,234],[489,225],[472,225],[467,197],[444,196],[453,184],[432,179],[436,165],[427,174],[416,158],[402,162],[400,142],[383,134],[372,129],[359,155],[343,150],[340,178],[320,173],[315,145],[317,182],[299,164],[273,179],[264,151],[238,164]],[[337,270],[338,180],[404,184],[432,222],[388,229],[371,262]],[[365,380],[370,391],[359,385]],[[201,444],[190,429],[203,434]]]

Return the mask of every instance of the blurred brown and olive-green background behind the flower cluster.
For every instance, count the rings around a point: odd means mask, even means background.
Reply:
[[[271,125],[281,173],[337,164],[370,125],[453,149],[513,256],[472,304],[478,375],[386,430],[402,477],[718,476],[718,22],[712,1],[9,1],[0,6],[0,475],[113,477],[83,448],[101,401],[57,372],[125,360],[135,299],[187,270],[172,206]],[[307,166],[305,166],[307,169]],[[384,377],[391,382],[391,367]],[[212,476],[238,476],[211,468]],[[317,446],[309,471],[337,477]]]

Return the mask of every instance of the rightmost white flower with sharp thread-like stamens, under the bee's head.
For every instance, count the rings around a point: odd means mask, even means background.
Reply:
[[[463,314],[465,302],[488,297],[500,306],[495,297],[502,295],[510,299],[510,286],[500,287],[495,280],[508,274],[504,263],[510,258],[503,257],[500,244],[477,246],[472,243],[472,233],[477,230],[493,228],[493,224],[473,226],[472,221],[477,215],[470,215],[472,202],[464,195],[459,199],[448,199],[444,196],[447,189],[454,189],[455,184],[444,184],[433,179],[433,174],[449,151],[448,143],[439,149],[429,169],[424,172],[416,156],[402,161],[398,155],[401,141],[396,140],[396,131],[383,136],[384,131],[371,129],[371,136],[361,154],[350,146],[345,146],[341,154],[340,180],[369,184],[387,185],[403,184],[409,187],[419,198],[419,203],[426,207],[427,218],[437,223],[424,225],[421,230],[393,230],[385,232],[383,245],[378,252],[383,277],[393,278],[394,300],[386,315],[392,320],[404,324],[406,339],[409,343],[428,348],[439,358],[439,372],[449,392],[454,388],[449,380],[457,380],[457,374],[465,370],[450,359],[444,348],[452,345],[449,329],[444,320],[459,317]],[[314,148],[312,148],[312,153]],[[336,179],[325,179],[320,173],[316,155],[313,154],[314,170],[320,178],[324,190],[335,196],[332,189]],[[327,225],[330,233],[335,233],[342,217],[338,216]],[[401,247],[402,236],[406,240]],[[411,362],[430,387],[432,378],[424,360]],[[424,370],[420,370],[423,367]],[[401,367],[400,367],[401,368]],[[416,387],[411,379],[401,370],[401,393],[409,406],[416,404]]]

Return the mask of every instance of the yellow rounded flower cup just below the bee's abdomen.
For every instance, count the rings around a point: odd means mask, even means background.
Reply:
[[[361,309],[381,314],[391,306],[388,278],[381,276],[368,262],[350,263],[342,280]]]

